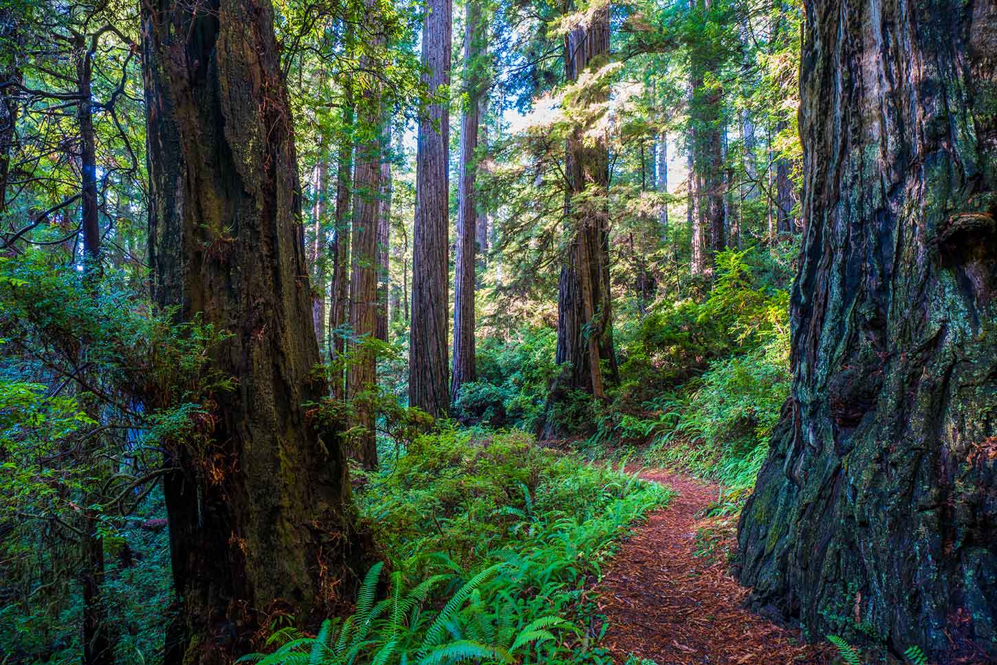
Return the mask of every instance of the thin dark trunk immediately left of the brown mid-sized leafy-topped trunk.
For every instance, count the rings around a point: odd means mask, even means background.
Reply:
[[[352,24],[348,24],[346,44],[352,44]],[[346,350],[343,326],[350,320],[350,199],[353,192],[353,85],[347,77],[340,81],[344,89],[343,128],[336,158],[335,236],[332,265],[332,307],[329,311],[329,360],[332,362],[332,397],[346,396],[346,368],[342,366]]]

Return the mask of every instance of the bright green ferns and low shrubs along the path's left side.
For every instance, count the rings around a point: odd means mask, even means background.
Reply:
[[[536,446],[521,432],[417,439],[367,477],[361,514],[383,547],[357,612],[316,637],[271,638],[274,663],[611,663],[585,589],[670,491]],[[279,646],[278,646],[279,645]]]

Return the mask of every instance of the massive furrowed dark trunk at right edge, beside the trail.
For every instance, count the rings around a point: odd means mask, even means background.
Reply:
[[[997,8],[806,7],[794,385],[740,579],[815,636],[997,662]]]

